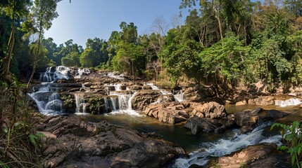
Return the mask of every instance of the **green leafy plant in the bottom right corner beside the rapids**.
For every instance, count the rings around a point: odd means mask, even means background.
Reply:
[[[284,125],[280,123],[274,123],[270,130],[274,127],[280,128],[282,139],[287,142],[287,145],[279,147],[279,150],[287,151],[291,154],[292,167],[302,167],[302,123],[294,121],[292,125]],[[289,134],[287,134],[289,132]],[[285,135],[285,137],[284,137]]]

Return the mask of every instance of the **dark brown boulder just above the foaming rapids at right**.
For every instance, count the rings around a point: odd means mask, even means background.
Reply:
[[[287,113],[277,110],[266,111],[258,108],[235,113],[234,120],[235,123],[241,127],[241,132],[246,133],[267,121],[274,121],[284,116],[287,116]]]

